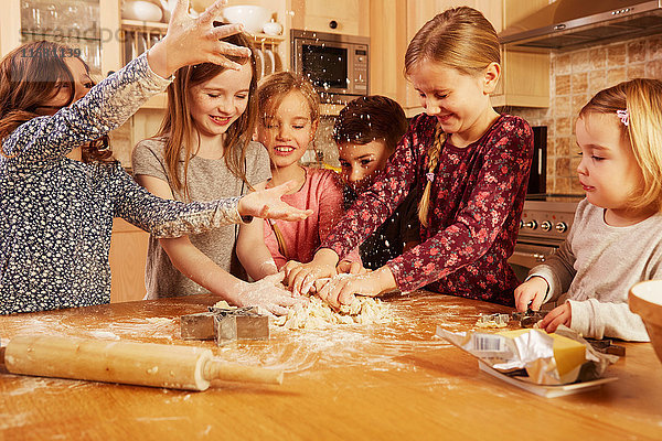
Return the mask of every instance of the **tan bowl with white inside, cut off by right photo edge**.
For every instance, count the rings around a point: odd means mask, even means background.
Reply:
[[[630,310],[641,315],[658,358],[662,362],[662,280],[639,282],[630,289]]]

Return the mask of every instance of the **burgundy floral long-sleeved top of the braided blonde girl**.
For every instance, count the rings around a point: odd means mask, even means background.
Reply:
[[[339,256],[361,244],[414,190],[426,184],[427,151],[437,120],[417,116],[381,179],[363,193],[322,247]],[[437,292],[513,305],[512,255],[533,155],[523,119],[502,115],[476,142],[442,146],[434,173],[428,227],[421,244],[386,265],[403,291]],[[352,232],[348,234],[346,232]]]

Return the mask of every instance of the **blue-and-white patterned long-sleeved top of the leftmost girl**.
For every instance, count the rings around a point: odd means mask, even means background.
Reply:
[[[118,162],[66,158],[120,126],[168,84],[142,55],[71,107],[34,118],[3,140],[0,314],[108,303],[115,216],[159,237],[241,222],[237,197],[164,201],[139,186]]]

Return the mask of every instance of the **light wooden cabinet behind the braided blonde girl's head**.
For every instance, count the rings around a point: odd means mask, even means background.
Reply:
[[[547,0],[372,0],[371,94],[397,100],[407,116],[423,111],[418,95],[405,80],[404,57],[416,32],[437,13],[468,6],[481,11],[496,32]],[[546,107],[549,101],[549,55],[502,50],[502,79],[493,106]]]

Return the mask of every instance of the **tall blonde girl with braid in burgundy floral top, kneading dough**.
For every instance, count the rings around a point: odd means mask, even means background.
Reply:
[[[421,244],[382,268],[334,278],[319,294],[332,305],[355,293],[427,287],[445,294],[513,305],[517,280],[506,262],[517,235],[533,152],[521,118],[490,104],[501,76],[494,28],[471,8],[427,22],[405,55],[405,73],[425,115],[414,118],[384,173],[349,209],[312,262],[291,269],[290,289],[308,292],[334,276],[412,191],[420,191]]]

